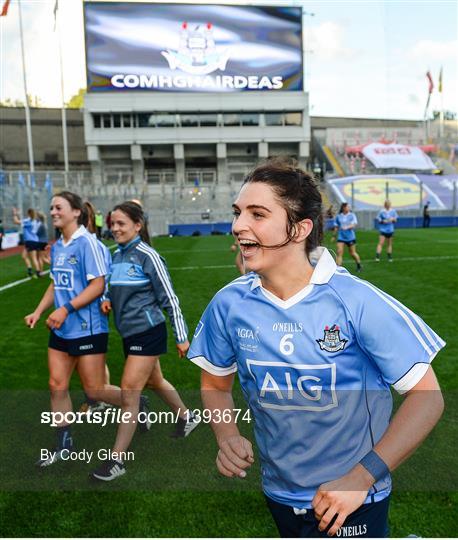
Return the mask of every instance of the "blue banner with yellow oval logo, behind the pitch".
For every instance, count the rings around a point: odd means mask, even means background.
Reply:
[[[431,210],[453,208],[454,183],[458,175],[416,174],[360,175],[330,180],[340,201],[351,201],[353,210],[377,210],[387,195],[398,210],[416,209],[429,201]],[[353,186],[353,187],[352,187]]]

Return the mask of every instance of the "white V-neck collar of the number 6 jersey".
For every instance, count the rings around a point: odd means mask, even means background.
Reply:
[[[259,276],[256,276],[253,280],[253,283],[251,284],[251,290],[256,289],[256,287],[261,287],[262,293],[269,300],[271,300],[273,303],[277,304],[280,307],[283,307],[285,309],[289,308],[294,304],[297,304],[297,302],[303,300],[306,296],[308,296],[312,292],[314,285],[323,285],[327,283],[334,275],[337,268],[337,265],[332,255],[324,247],[318,247],[310,253],[310,262],[312,266],[314,266],[313,274],[310,278],[310,283],[298,293],[296,293],[294,296],[288,298],[288,300],[282,300],[281,298],[278,298],[278,296],[272,294],[267,289],[264,289],[262,286],[261,278]]]

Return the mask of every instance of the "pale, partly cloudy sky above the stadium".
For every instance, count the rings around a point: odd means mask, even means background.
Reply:
[[[55,0],[22,0],[21,4],[28,93],[43,106],[60,107]],[[303,5],[314,14],[305,17],[306,88],[313,116],[422,119],[427,71],[435,85],[430,109],[439,110],[442,98],[445,110],[458,112],[455,0],[292,0],[290,5]],[[18,16],[17,0],[11,0],[8,15],[0,18],[2,101],[24,99]],[[86,86],[81,0],[60,0],[58,24],[68,101]],[[442,96],[438,92],[441,67]]]

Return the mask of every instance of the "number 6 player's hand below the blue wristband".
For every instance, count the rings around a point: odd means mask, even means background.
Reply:
[[[366,500],[373,482],[372,476],[358,464],[345,476],[322,484],[312,500],[315,517],[320,522],[318,529],[326,530],[335,517],[328,531],[328,536],[334,536],[347,517]]]

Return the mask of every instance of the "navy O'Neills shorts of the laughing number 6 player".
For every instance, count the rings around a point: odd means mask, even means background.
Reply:
[[[297,516],[291,506],[277,503],[267,495],[265,497],[282,538],[329,538],[326,531],[318,529],[319,521],[313,510]],[[389,504],[389,496],[375,503],[363,504],[347,517],[334,538],[387,538]]]

